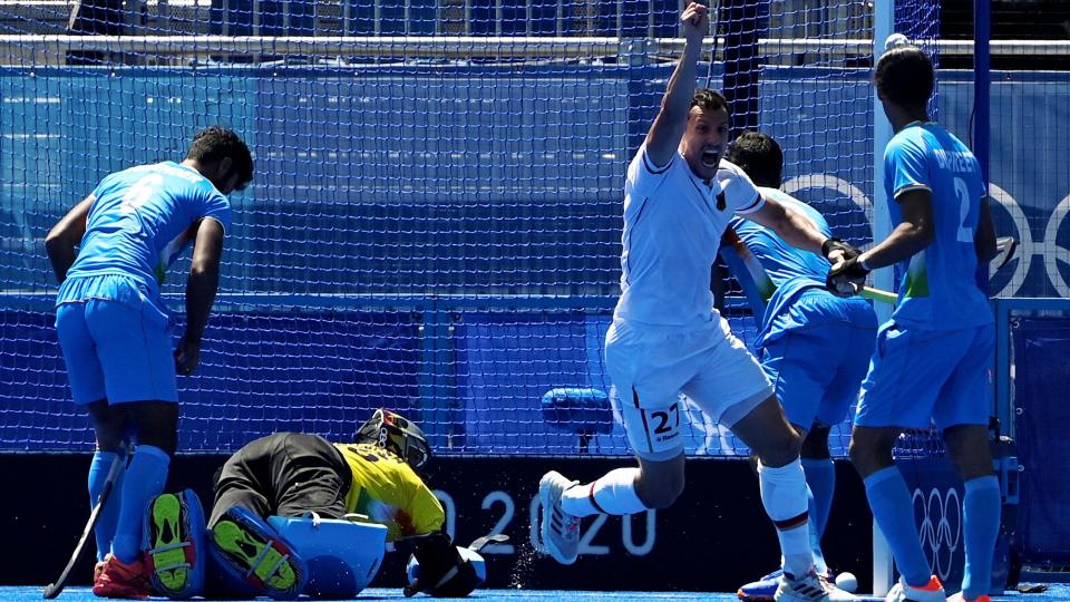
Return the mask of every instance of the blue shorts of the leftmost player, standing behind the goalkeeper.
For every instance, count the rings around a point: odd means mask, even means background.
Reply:
[[[124,299],[85,299],[56,308],[75,404],[178,400],[167,315],[144,294]]]

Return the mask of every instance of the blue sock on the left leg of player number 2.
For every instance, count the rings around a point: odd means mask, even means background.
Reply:
[[[925,552],[917,541],[914,506],[911,504],[911,493],[906,491],[903,475],[898,468],[889,466],[869,475],[863,483],[873,517],[884,538],[888,541],[899,574],[907,584],[924,586],[932,573]]]

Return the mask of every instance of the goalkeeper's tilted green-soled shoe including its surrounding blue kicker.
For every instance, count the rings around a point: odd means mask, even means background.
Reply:
[[[308,580],[304,561],[262,520],[235,506],[212,528],[212,543],[222,560],[245,581],[275,600],[301,595]]]

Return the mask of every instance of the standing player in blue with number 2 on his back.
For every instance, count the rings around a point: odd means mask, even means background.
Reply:
[[[896,132],[884,154],[895,227],[869,251],[837,263],[830,284],[844,290],[869,270],[905,268],[899,301],[877,337],[850,443],[852,462],[902,575],[888,600],[944,600],[892,458],[901,430],[935,423],[965,484],[965,575],[963,591],[951,600],[988,601],[1000,522],[988,439],[995,329],[974,274],[979,261],[994,255],[995,236],[977,159],[928,119],[933,82],[932,61],[914,46],[894,47],[877,62],[877,97]]]

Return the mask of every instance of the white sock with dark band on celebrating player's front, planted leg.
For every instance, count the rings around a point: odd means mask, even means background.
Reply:
[[[810,551],[810,526],[806,475],[799,459],[779,468],[758,465],[761,504],[777,526],[784,570],[801,577],[810,572],[814,555]]]

